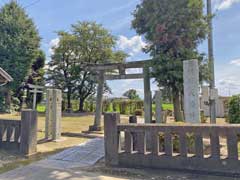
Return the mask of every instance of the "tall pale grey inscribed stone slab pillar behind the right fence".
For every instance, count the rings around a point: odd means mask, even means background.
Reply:
[[[184,115],[188,123],[200,123],[198,60],[183,62]]]

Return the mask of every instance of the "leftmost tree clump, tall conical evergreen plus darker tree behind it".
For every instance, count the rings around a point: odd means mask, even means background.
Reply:
[[[23,83],[44,84],[44,64],[45,54],[32,19],[15,1],[5,4],[0,9],[0,66],[14,81],[0,88],[0,111],[19,109]]]

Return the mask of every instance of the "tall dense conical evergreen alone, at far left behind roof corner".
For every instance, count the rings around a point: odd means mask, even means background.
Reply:
[[[6,102],[16,94],[31,72],[39,50],[40,37],[31,18],[16,1],[0,9],[0,66],[14,79],[6,86]]]

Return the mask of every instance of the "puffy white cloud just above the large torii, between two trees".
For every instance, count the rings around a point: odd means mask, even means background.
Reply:
[[[135,56],[136,54],[142,52],[142,49],[146,45],[147,44],[143,41],[141,36],[133,36],[132,38],[119,36],[117,41],[118,48],[127,51],[130,56]]]

